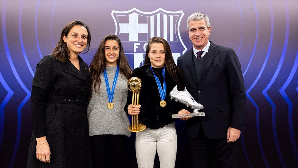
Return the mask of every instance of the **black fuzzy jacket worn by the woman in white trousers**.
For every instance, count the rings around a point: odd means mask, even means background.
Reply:
[[[177,114],[185,105],[180,102],[175,102],[174,99],[170,99],[169,94],[176,86],[176,83],[172,80],[167,69],[165,69],[165,81],[167,84],[165,101],[167,105],[164,107],[159,105],[161,98],[154,75],[150,70],[150,65],[144,65],[134,69],[131,77],[138,77],[142,80],[142,88],[139,95],[139,104],[141,105],[139,123],[145,124],[146,127],[150,129],[159,129],[175,122],[176,119],[172,119],[172,114]],[[159,80],[163,81],[162,74],[159,75]],[[184,89],[182,76],[178,77],[178,81],[181,82],[180,85]],[[127,107],[131,102],[132,92],[128,91],[127,103],[124,108],[127,114]]]

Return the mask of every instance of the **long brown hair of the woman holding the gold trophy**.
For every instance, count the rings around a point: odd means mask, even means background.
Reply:
[[[146,47],[146,55],[145,55],[145,63],[144,65],[149,65],[151,64],[150,59],[148,57],[148,53],[150,51],[151,45],[153,43],[162,43],[164,45],[164,52],[165,52],[165,57],[164,57],[164,64],[167,68],[168,73],[170,74],[170,76],[172,77],[172,79],[174,80],[174,82],[178,85],[178,88],[181,88],[181,85],[179,84],[178,81],[178,77],[177,77],[177,73],[182,77],[182,73],[180,71],[180,69],[176,66],[174,59],[173,59],[173,55],[172,55],[172,51],[170,48],[169,43],[161,38],[161,37],[152,37],[148,40],[148,45]]]

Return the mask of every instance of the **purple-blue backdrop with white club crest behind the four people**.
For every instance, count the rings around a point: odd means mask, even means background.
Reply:
[[[103,36],[114,33],[136,68],[152,36],[169,41],[174,60],[190,49],[187,17],[204,12],[211,24],[209,40],[232,47],[242,65],[247,99],[238,166],[297,167],[297,6],[297,0],[1,0],[0,166],[26,165],[32,77],[64,25],[74,20],[89,25],[91,47],[81,54],[88,65]],[[176,128],[176,167],[186,167],[185,125],[177,121]],[[127,141],[130,167],[136,166],[134,138]]]

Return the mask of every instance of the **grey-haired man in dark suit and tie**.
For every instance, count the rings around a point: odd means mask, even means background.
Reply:
[[[210,23],[204,13],[187,19],[193,48],[178,58],[184,83],[204,106],[204,117],[186,121],[193,167],[209,167],[215,149],[220,167],[237,167],[236,141],[244,129],[245,88],[240,63],[232,48],[209,42]],[[187,110],[178,114],[187,114]]]

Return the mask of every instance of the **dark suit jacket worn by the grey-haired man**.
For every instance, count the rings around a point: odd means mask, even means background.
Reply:
[[[177,66],[185,87],[204,106],[200,111],[206,116],[187,120],[187,135],[197,137],[200,123],[210,139],[226,138],[229,127],[243,130],[246,96],[235,51],[211,42],[200,79],[195,76],[192,57],[193,48],[178,58]]]

